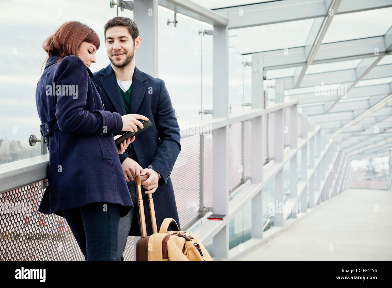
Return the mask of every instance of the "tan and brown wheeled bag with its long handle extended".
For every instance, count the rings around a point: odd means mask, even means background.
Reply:
[[[148,195],[148,200],[153,234],[147,236],[140,187],[142,178],[136,176],[135,182],[142,230],[142,238],[136,242],[136,261],[213,261],[196,235],[191,232],[179,231],[174,219],[163,220],[159,232],[157,231],[152,194]],[[168,231],[169,227],[171,230]]]

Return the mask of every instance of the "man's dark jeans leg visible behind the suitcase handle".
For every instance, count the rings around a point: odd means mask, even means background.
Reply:
[[[129,213],[120,218],[120,227],[119,227],[119,235],[118,235],[118,251],[116,255],[116,261],[124,261],[123,253],[125,250],[125,246],[127,245],[127,239],[129,230],[131,229],[131,223],[133,217],[138,218],[138,225],[140,230],[140,216],[139,216],[139,206],[138,206],[138,199],[136,196],[136,187],[135,181],[127,182],[127,186],[129,189],[129,193],[131,194],[133,208]]]

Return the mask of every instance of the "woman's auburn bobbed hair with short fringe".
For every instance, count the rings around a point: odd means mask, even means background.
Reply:
[[[53,35],[46,38],[42,43],[42,48],[47,52],[47,57],[45,58],[42,67],[44,67],[49,56],[53,54],[61,56],[57,61],[57,64],[59,64],[65,56],[77,56],[76,51],[78,51],[82,42],[92,43],[97,50],[101,43],[98,34],[86,24],[79,21],[65,22]]]

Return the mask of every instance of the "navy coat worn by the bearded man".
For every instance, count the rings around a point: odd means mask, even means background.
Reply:
[[[105,109],[125,115],[120,88],[111,64],[94,72],[93,82],[101,88],[100,96]],[[162,185],[158,185],[158,188],[152,194],[158,230],[165,218],[173,218],[180,228],[176,199],[170,179],[174,163],[181,150],[180,127],[165,82],[140,71],[136,66],[132,76],[129,113],[142,114],[152,122],[152,127],[136,136],[132,145],[140,166],[156,170],[163,178]],[[130,157],[129,147],[126,152],[119,155],[121,163],[125,158]],[[134,185],[134,181],[130,181],[129,185]],[[147,235],[151,235],[150,209],[143,186],[142,197]],[[136,211],[136,215],[138,215],[138,212],[139,210]],[[132,219],[128,235],[141,236],[136,217]]]

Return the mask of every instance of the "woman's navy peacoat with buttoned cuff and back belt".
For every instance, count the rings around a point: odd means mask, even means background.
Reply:
[[[37,83],[36,105],[41,133],[49,150],[49,185],[38,211],[62,216],[61,209],[93,202],[133,207],[114,144],[122,130],[117,112],[103,110],[99,87],[78,56],[50,55]]]

